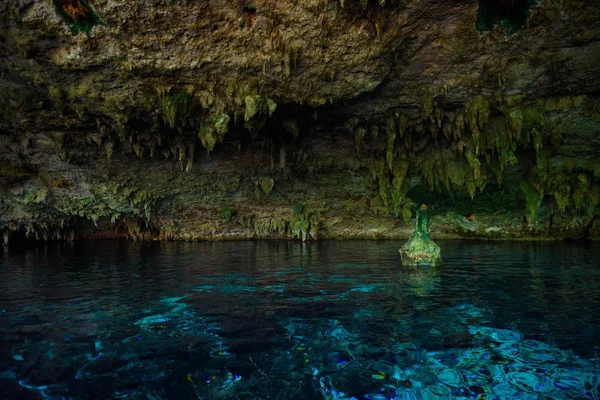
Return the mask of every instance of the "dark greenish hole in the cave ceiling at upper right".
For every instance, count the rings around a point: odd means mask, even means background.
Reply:
[[[479,32],[494,26],[506,28],[508,35],[528,26],[535,0],[479,0],[476,27]]]

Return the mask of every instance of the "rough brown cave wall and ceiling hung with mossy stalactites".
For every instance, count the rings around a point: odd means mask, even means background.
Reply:
[[[0,229],[600,237],[600,2],[0,4]]]

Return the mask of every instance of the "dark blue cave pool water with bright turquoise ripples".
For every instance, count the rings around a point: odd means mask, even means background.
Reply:
[[[0,257],[0,398],[600,396],[600,246],[80,243]]]

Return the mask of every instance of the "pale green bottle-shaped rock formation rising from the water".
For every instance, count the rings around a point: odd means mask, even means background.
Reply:
[[[423,204],[415,218],[415,232],[400,248],[400,258],[405,266],[442,265],[440,247],[429,237],[429,215],[427,205]]]

